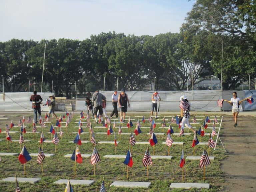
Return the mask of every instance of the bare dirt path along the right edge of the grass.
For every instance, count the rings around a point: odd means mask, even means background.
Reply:
[[[221,162],[227,182],[221,184],[224,191],[256,191],[256,117],[238,116],[234,127],[231,116],[223,118],[221,141],[229,153]]]

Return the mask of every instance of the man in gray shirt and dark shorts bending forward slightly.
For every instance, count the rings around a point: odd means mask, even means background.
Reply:
[[[103,122],[103,116],[102,116],[102,114],[103,114],[102,100],[104,100],[105,102],[107,101],[106,97],[103,94],[99,93],[99,90],[96,90],[95,93],[92,95],[92,102],[94,104],[93,105],[94,118],[95,118],[96,123],[98,123],[97,122],[97,113],[98,113],[98,111],[99,111],[99,114],[100,114],[99,123],[100,122],[104,123]]]

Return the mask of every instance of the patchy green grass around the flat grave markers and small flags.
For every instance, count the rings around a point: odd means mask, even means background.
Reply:
[[[8,114],[6,114],[8,115]],[[15,114],[12,114],[15,115]],[[64,135],[62,140],[60,139],[59,144],[57,145],[57,152],[53,157],[45,158],[43,162],[44,168],[44,176],[42,176],[41,166],[37,164],[37,157],[32,157],[28,163],[26,163],[26,176],[24,176],[24,166],[19,162],[18,156],[2,156],[2,162],[0,162],[0,180],[6,177],[30,177],[30,178],[41,178],[36,184],[29,184],[29,183],[19,183],[21,191],[23,192],[39,192],[39,191],[52,191],[52,192],[59,192],[64,191],[66,185],[55,185],[53,182],[59,179],[81,179],[81,180],[95,180],[95,183],[88,187],[83,185],[73,185],[74,191],[100,191],[101,182],[104,177],[105,186],[107,191],[134,191],[134,192],[146,192],[146,191],[170,191],[169,186],[172,182],[182,182],[182,169],[179,167],[181,152],[182,152],[182,145],[172,145],[170,147],[170,155],[173,157],[171,160],[167,159],[153,159],[153,165],[149,168],[149,178],[147,179],[147,169],[142,165],[142,159],[144,153],[146,151],[147,145],[135,145],[132,147],[132,158],[133,158],[133,167],[129,168],[129,179],[127,180],[127,172],[126,172],[126,165],[123,164],[124,159],[105,159],[103,158],[104,155],[114,155],[115,148],[114,144],[96,144],[96,148],[99,152],[101,157],[101,161],[96,165],[96,176],[93,176],[93,166],[90,163],[90,158],[84,158],[82,164],[77,163],[76,167],[76,177],[74,177],[74,161],[70,158],[64,158],[63,156],[66,154],[72,154],[75,149],[75,144],[68,143],[68,141],[73,141],[76,134],[72,134],[72,132],[77,132],[78,128],[74,128],[74,126],[78,126],[76,118],[78,117],[79,113],[74,114],[74,118],[70,123],[69,127],[67,128],[67,132],[65,132],[65,124],[62,124],[62,131],[64,131]],[[131,118],[135,118],[136,120],[132,120],[133,127],[130,131],[134,131],[136,127],[137,119],[141,122],[141,117],[135,116],[142,116],[146,115],[146,123],[144,126],[150,126],[147,123],[147,119],[149,117],[148,114],[129,114]],[[205,115],[205,114],[203,114]],[[198,116],[203,116],[198,115]],[[208,116],[214,116],[218,114],[207,113]],[[169,116],[169,115],[167,115]],[[31,118],[33,115],[31,114]],[[193,117],[193,114],[191,114]],[[12,117],[9,117],[12,118]],[[170,122],[170,117],[166,117],[169,119],[167,122]],[[13,122],[15,125],[18,125],[19,119],[22,117],[13,117]],[[32,118],[33,119],[33,118]],[[198,117],[197,119],[204,119],[203,117]],[[213,118],[211,118],[213,119]],[[218,118],[220,119],[220,118]],[[26,128],[26,131],[32,131],[32,123],[28,124],[27,117],[25,117],[25,125],[29,126]],[[50,121],[52,117],[50,118]],[[128,117],[126,119],[127,123]],[[7,152],[7,143],[6,143],[6,134],[5,134],[5,124],[6,122],[10,126],[10,120],[0,120],[2,125],[2,133],[0,134],[0,139],[4,141],[0,142],[0,152]],[[86,117],[83,120],[86,121]],[[193,121],[193,119],[191,119]],[[91,119],[94,132],[107,132],[107,129],[103,128],[94,128],[94,126],[99,126],[96,124],[94,120]],[[112,120],[113,122],[113,120]],[[162,118],[156,120],[156,122],[162,123]],[[203,121],[197,121],[200,124],[203,124]],[[220,120],[218,121],[220,122]],[[125,124],[126,124],[125,123]],[[55,124],[55,123],[53,123]],[[126,126],[126,125],[123,126]],[[196,129],[199,129],[200,124],[195,126]],[[46,124],[48,125],[48,124]],[[142,125],[142,122],[141,122]],[[168,128],[169,124],[167,124]],[[112,124],[113,127],[113,124]],[[119,141],[118,135],[118,124],[117,129],[115,130],[117,134],[117,141]],[[172,124],[173,130],[175,133],[179,132],[178,126]],[[218,125],[217,125],[218,127]],[[167,132],[167,128],[164,129],[164,132]],[[208,126],[205,130],[205,133],[212,132],[212,124]],[[56,128],[55,128],[56,129]],[[38,131],[42,131],[41,128],[37,129]],[[45,136],[45,140],[51,140],[51,134],[48,133],[50,130],[50,126],[43,129],[43,133]],[[83,124],[84,132],[89,132],[89,129],[86,127],[86,124]],[[150,136],[147,135],[149,133],[149,128],[142,128],[142,133],[139,135],[139,141],[149,141]],[[10,131],[20,131],[20,128],[12,128]],[[59,131],[59,130],[58,130]],[[129,131],[128,128],[122,128],[123,133],[127,133]],[[156,124],[155,133],[163,133],[162,125]],[[185,129],[185,133],[188,133],[189,130]],[[218,132],[218,129],[216,129]],[[190,131],[191,133],[191,131]],[[18,140],[20,137],[19,133],[10,134],[13,140]],[[35,134],[35,139],[33,139],[33,134],[24,134],[25,140],[31,140],[31,142],[25,143],[25,146],[29,153],[38,153],[38,141],[40,140],[41,134]],[[135,134],[134,134],[135,136]],[[158,144],[155,145],[155,155],[168,155],[168,146],[161,144],[162,142],[166,141],[167,135],[156,135]],[[191,147],[193,134],[190,136],[183,136],[178,137],[171,135],[174,142],[184,142],[184,156],[193,156],[194,149]],[[52,136],[53,138],[53,136]],[[80,138],[82,141],[90,141],[90,134],[81,134]],[[95,134],[96,142],[99,141],[108,141],[107,135],[102,134]],[[117,155],[126,155],[127,148],[129,145],[129,135],[121,135],[121,142],[117,146],[116,154]],[[137,141],[137,136],[135,137]],[[209,136],[204,136],[201,138],[202,142],[208,142]],[[200,136],[198,136],[200,141]],[[216,136],[214,137],[214,141],[216,140]],[[114,141],[114,135],[110,136],[110,141]],[[195,156],[201,156],[203,149],[205,146],[197,145],[195,147]],[[81,154],[92,154],[92,144],[91,143],[83,143],[80,146],[80,153]],[[208,147],[207,147],[208,149]],[[153,155],[153,147],[149,145],[149,150],[151,155]],[[55,145],[53,143],[44,143],[43,144],[43,151],[44,153],[54,153],[55,152]],[[9,143],[9,152],[13,153],[20,153],[20,144],[18,142]],[[208,152],[208,150],[207,150]],[[225,155],[219,152],[215,152],[213,154],[213,149],[211,150],[210,156],[215,157],[215,160],[211,162],[210,165],[206,166],[205,168],[205,181],[203,181],[203,169],[199,167],[199,160],[197,161],[189,161],[186,160],[186,165],[184,166],[184,182],[196,182],[196,183],[210,183],[210,189],[190,189],[190,190],[182,190],[182,189],[175,189],[172,191],[220,191],[222,188],[219,185],[221,182],[224,182],[223,173],[220,169],[220,160],[225,158]],[[115,188],[110,187],[110,184],[113,181],[141,181],[141,182],[152,182],[148,189],[132,189],[132,188]],[[1,192],[9,192],[15,190],[15,183],[0,183],[0,191]]]

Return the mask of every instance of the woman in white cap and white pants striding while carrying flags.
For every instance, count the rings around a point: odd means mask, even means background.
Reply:
[[[184,106],[184,107],[182,107],[182,109],[183,109],[183,112],[182,112],[183,113],[183,118],[182,118],[182,121],[181,121],[181,129],[184,130],[184,125],[185,125],[187,128],[191,129],[195,133],[196,130],[193,129],[192,126],[189,124],[190,103],[188,102],[187,97],[185,95],[182,95],[180,97],[180,102],[183,102],[183,106]]]

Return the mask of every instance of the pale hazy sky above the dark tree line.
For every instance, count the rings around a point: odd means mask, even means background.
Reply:
[[[101,32],[179,32],[195,1],[0,0],[0,41],[79,39]]]

